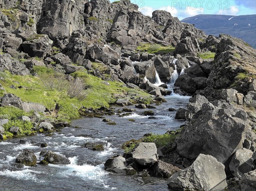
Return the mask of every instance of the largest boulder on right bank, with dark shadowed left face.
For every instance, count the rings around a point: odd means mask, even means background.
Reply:
[[[209,154],[224,163],[243,148],[247,134],[251,140],[256,139],[248,125],[246,112],[232,104],[220,101],[194,103],[188,106],[187,113],[190,111],[197,112],[189,117],[189,123],[175,141],[176,151],[183,157],[194,159],[201,153]]]

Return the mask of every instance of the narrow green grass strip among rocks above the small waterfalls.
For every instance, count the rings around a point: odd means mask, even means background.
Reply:
[[[148,54],[167,54],[175,51],[175,48],[173,46],[163,46],[160,44],[140,44],[140,46],[137,46],[137,51],[143,51],[148,52]]]

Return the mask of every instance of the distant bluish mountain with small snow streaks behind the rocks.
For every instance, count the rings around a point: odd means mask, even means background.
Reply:
[[[182,22],[195,24],[196,28],[204,30],[208,35],[230,34],[256,48],[256,14],[240,16],[199,14],[183,19]]]

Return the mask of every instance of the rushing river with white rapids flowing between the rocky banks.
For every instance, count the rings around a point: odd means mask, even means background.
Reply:
[[[172,90],[177,74],[173,74],[168,89]],[[159,83],[159,82],[157,82]],[[0,143],[0,190],[1,191],[167,191],[166,179],[154,177],[125,176],[110,174],[104,170],[104,162],[111,156],[122,154],[120,145],[131,139],[139,139],[146,133],[164,134],[168,130],[175,130],[183,125],[183,121],[175,120],[176,111],[168,108],[186,107],[189,97],[172,93],[166,96],[166,103],[155,105],[156,119],[140,115],[137,109],[132,115],[118,117],[105,116],[116,122],[107,125],[100,118],[80,118],[73,120],[73,126],[80,128],[64,128],[61,132],[54,132],[52,136],[37,134],[22,138],[26,144],[20,144],[20,138]],[[135,108],[129,106],[130,108]],[[114,108],[119,109],[119,108]],[[129,121],[134,119],[135,121]],[[84,148],[84,143],[101,142],[104,151],[91,151]],[[40,143],[47,143],[48,147],[41,148]],[[52,150],[64,155],[71,161],[70,165],[37,165],[22,169],[12,166],[12,162],[23,149],[35,152],[38,162],[42,150]]]

